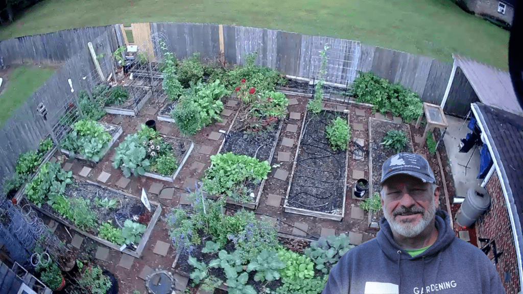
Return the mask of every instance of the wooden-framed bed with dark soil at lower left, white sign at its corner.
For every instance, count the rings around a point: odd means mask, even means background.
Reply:
[[[126,220],[134,220],[136,217],[144,216],[144,219],[148,219],[149,223],[146,224],[146,230],[142,235],[141,241],[138,243],[137,248],[135,250],[130,250],[128,248],[124,249],[122,252],[129,254],[134,257],[140,257],[142,255],[142,252],[145,248],[145,244],[147,243],[147,240],[149,239],[149,236],[151,235],[151,232],[154,228],[154,225],[156,224],[156,221],[160,217],[160,214],[162,213],[162,207],[153,201],[150,201],[151,203],[151,211],[147,211],[147,209],[142,204],[140,198],[133,196],[131,194],[127,194],[121,191],[117,191],[115,189],[111,189],[109,187],[101,186],[97,183],[90,182],[88,180],[82,180],[77,177],[75,177],[74,180],[75,185],[67,185],[65,188],[64,196],[66,198],[70,198],[73,196],[79,196],[83,199],[89,199],[90,200],[90,207],[95,210],[96,212],[96,221],[97,224],[100,225],[102,223],[105,223],[107,221],[110,221],[111,223],[115,224],[118,227],[118,223],[123,226],[123,223]],[[104,199],[108,198],[111,199],[117,199],[118,208],[116,209],[106,209],[103,207],[98,207],[95,204],[95,198]],[[37,211],[45,214],[46,216],[52,218],[53,220],[60,222],[65,227],[75,230],[76,232],[87,236],[93,240],[95,240],[98,243],[104,244],[110,248],[113,248],[115,250],[120,251],[121,245],[109,242],[105,239],[101,239],[97,236],[98,228],[93,228],[90,230],[82,230],[77,228],[74,224],[72,224],[69,220],[63,218],[59,215],[51,206],[49,206],[47,203],[43,203],[41,207],[36,206],[34,203],[27,201],[29,205],[32,207],[32,209],[36,209]]]

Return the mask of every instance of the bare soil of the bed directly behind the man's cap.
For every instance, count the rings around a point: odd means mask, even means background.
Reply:
[[[394,123],[392,121],[371,120],[371,143],[372,143],[372,188],[373,191],[380,191],[381,167],[383,163],[397,152],[393,149],[385,148],[381,144],[383,138],[389,130],[401,130],[407,134],[408,143],[404,150],[398,152],[414,152],[411,131],[408,125]]]

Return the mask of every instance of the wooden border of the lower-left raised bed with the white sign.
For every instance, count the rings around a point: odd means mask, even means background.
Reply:
[[[138,199],[138,200],[141,200],[139,197],[137,196],[134,196],[134,195],[131,195],[131,194],[128,194],[128,193],[125,193],[123,191],[119,191],[119,190],[116,190],[116,189],[113,189],[113,188],[110,188],[110,187],[107,187],[107,186],[103,186],[103,185],[100,185],[98,183],[95,183],[95,182],[91,182],[90,180],[86,180],[86,179],[82,179],[82,178],[79,178],[77,176],[74,176],[74,179],[75,180],[81,180],[83,182],[86,182],[86,183],[89,183],[89,184],[92,184],[92,185],[95,185],[95,186],[98,186],[98,187],[101,187],[101,188],[105,188],[105,189],[108,189],[114,193],[119,193],[119,194],[122,194],[124,196],[127,196],[127,197],[131,197],[131,198],[135,198],[135,199]],[[61,218],[58,218],[56,216],[54,216],[54,214],[51,214],[41,208],[39,208],[38,206],[35,205],[35,203],[29,201],[28,199],[26,199],[27,202],[29,203],[29,205],[33,208],[33,209],[36,209],[38,210],[39,212],[45,214],[46,216],[48,216],[49,218],[61,223],[62,225],[64,225],[65,227],[69,227],[70,229],[73,229],[75,230],[76,232],[84,235],[84,236],[87,236],[93,240],[95,240],[96,242],[98,243],[101,243],[101,244],[104,244],[114,250],[117,250],[117,251],[120,251],[120,245],[118,244],[115,244],[115,243],[112,243],[112,242],[109,242],[107,240],[104,240],[104,239],[101,239],[101,238],[98,238],[98,236],[95,236],[93,234],[90,234],[90,233],[87,233],[83,230],[80,230],[78,228],[76,228],[74,225],[62,220]],[[133,250],[129,250],[129,249],[124,249],[123,251],[121,251],[122,253],[126,253],[126,254],[129,254],[131,256],[134,256],[134,257],[138,257],[140,258],[142,256],[142,252],[145,248],[145,244],[147,244],[147,241],[149,241],[149,237],[154,229],[154,226],[156,225],[156,222],[158,221],[158,218],[160,218],[160,214],[162,214],[162,207],[160,205],[160,203],[157,203],[155,201],[150,201],[152,205],[155,205],[156,206],[156,209],[154,210],[154,214],[151,218],[151,221],[149,222],[149,224],[147,224],[147,228],[145,229],[145,233],[143,233],[142,235],[142,240],[140,240],[140,243],[138,243],[138,246],[137,246],[137,250],[133,251]]]

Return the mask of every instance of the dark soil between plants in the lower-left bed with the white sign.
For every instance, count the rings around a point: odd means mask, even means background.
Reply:
[[[80,180],[76,180],[74,185],[67,185],[64,196],[68,198],[81,197],[83,199],[88,199],[90,201],[90,208],[93,209],[93,211],[96,213],[96,220],[98,225],[106,221],[110,221],[115,227],[122,228],[123,223],[126,220],[138,220],[138,218],[147,211],[140,199],[129,198],[123,194],[115,193],[109,189]],[[99,207],[96,205],[95,198],[100,200],[105,198],[108,198],[109,200],[117,199],[117,208],[107,209],[104,207]],[[152,205],[152,207],[155,209],[154,205]],[[54,216],[66,221],[67,223],[72,223],[63,217],[59,217],[60,214],[47,203],[42,204],[42,209],[52,213]],[[86,229],[85,231],[94,235],[98,235],[98,227]]]

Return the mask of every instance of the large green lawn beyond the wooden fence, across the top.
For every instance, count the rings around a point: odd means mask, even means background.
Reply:
[[[44,0],[0,28],[0,39],[147,21],[281,29],[360,40],[445,61],[459,53],[508,68],[508,31],[463,12],[454,0]]]

